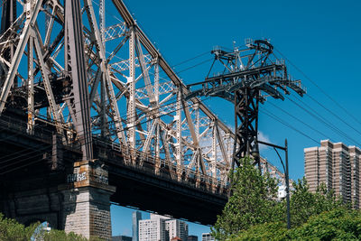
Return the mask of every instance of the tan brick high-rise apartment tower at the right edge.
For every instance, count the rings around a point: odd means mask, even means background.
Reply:
[[[336,195],[355,209],[360,208],[360,160],[361,150],[356,146],[321,141],[320,146],[304,149],[305,175],[311,191],[321,183],[333,189]]]

